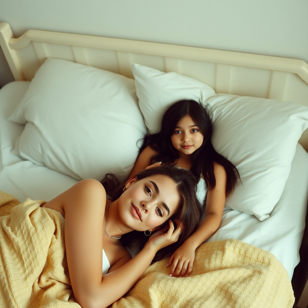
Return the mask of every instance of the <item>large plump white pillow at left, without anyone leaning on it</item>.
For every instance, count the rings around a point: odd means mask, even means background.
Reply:
[[[133,79],[51,58],[9,120],[26,124],[15,154],[79,180],[127,176],[146,133]]]

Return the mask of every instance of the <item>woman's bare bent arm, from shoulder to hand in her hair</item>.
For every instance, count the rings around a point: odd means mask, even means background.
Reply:
[[[172,221],[167,233],[156,232],[133,259],[102,276],[105,190],[96,180],[83,180],[44,206],[65,216],[64,237],[71,286],[83,308],[103,308],[124,295],[150,265],[156,252],[178,240]]]

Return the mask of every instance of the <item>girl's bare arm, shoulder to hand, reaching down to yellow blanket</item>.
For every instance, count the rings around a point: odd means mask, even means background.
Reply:
[[[191,273],[196,248],[211,237],[221,223],[226,199],[227,174],[221,165],[214,163],[214,175],[216,186],[207,193],[204,220],[173,253],[167,264],[167,267],[171,266],[169,274],[174,277],[186,277]]]

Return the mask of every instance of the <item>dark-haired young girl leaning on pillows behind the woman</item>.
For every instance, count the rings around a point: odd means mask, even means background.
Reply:
[[[170,257],[170,276],[187,277],[191,273],[196,248],[218,229],[225,198],[232,194],[239,178],[236,167],[214,150],[211,135],[211,120],[200,103],[174,103],[163,116],[160,132],[145,137],[130,173],[133,176],[161,163],[177,165],[190,169],[197,178],[197,195],[202,204],[206,196],[205,218]]]

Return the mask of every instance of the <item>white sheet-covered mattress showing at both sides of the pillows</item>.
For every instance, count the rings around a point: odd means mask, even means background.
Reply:
[[[49,201],[77,180],[39,166],[10,151],[23,125],[7,117],[13,112],[27,87],[28,81],[15,81],[0,90],[0,190],[20,201],[27,197]],[[308,154],[298,144],[290,176],[271,217],[259,221],[255,216],[225,209],[221,226],[208,241],[239,239],[273,253],[292,278],[299,262],[299,247],[305,228],[308,195]]]

